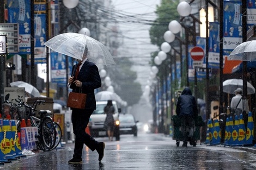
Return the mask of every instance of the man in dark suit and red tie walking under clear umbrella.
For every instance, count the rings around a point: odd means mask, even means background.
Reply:
[[[86,133],[90,115],[96,109],[94,90],[101,86],[99,70],[93,62],[87,61],[87,57],[84,56],[84,59],[79,61],[79,64],[73,66],[72,73],[75,72],[77,77],[73,74],[74,76],[68,79],[69,87],[72,89],[72,92],[86,93],[87,99],[85,109],[71,108],[75,149],[73,158],[69,163],[82,163],[83,144],[86,144],[92,151],[96,150],[99,153],[99,161],[101,161],[104,156],[105,142],[98,142]]]

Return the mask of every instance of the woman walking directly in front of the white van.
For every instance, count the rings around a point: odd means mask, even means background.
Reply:
[[[114,135],[114,113],[115,113],[115,108],[112,104],[112,100],[107,100],[107,105],[104,108],[104,112],[107,115],[104,126],[105,129],[107,130],[107,135],[108,135],[108,140],[113,141],[113,135]]]

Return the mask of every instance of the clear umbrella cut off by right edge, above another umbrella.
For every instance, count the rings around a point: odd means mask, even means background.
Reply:
[[[246,41],[235,47],[229,54],[228,59],[256,61],[256,40]]]

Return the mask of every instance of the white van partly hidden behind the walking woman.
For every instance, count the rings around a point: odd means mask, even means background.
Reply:
[[[120,112],[120,109],[118,109],[117,102],[112,100],[112,104],[115,108],[115,114],[113,115],[115,120],[115,130],[114,130],[114,137],[115,140],[120,140],[120,133],[119,133],[119,120],[118,115]],[[93,114],[90,116],[89,120],[89,128],[90,128],[90,134],[93,137],[99,137],[99,136],[107,136],[107,131],[103,128],[104,122],[106,119],[106,114],[104,114],[104,107],[107,105],[106,101],[97,101],[96,102],[96,109],[93,111]]]

